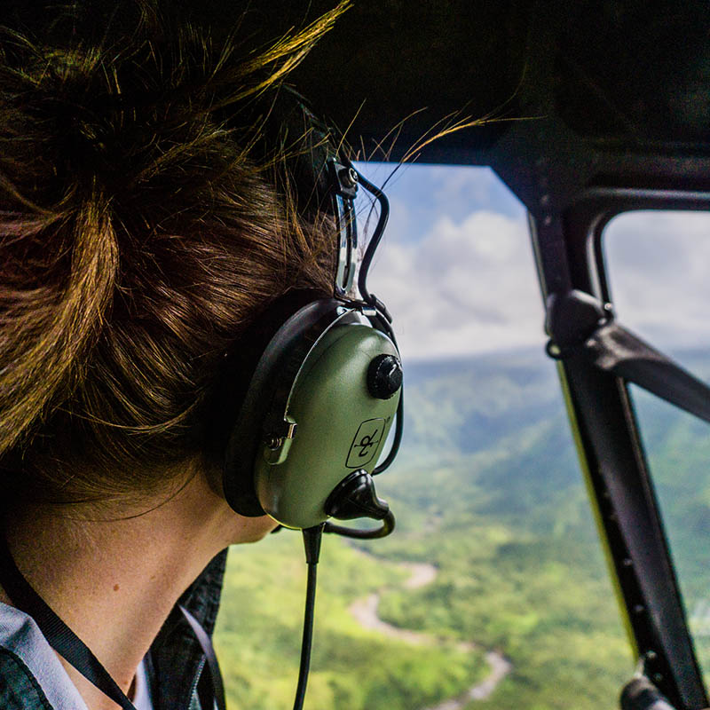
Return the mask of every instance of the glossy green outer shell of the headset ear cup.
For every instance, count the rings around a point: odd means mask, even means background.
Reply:
[[[282,525],[324,522],[335,488],[355,472],[375,469],[401,391],[401,380],[387,396],[372,386],[371,366],[383,358],[399,367],[387,335],[354,317],[338,319],[303,360],[288,398],[274,400],[280,420],[297,426],[296,436],[260,447],[256,493]]]

